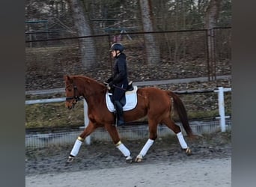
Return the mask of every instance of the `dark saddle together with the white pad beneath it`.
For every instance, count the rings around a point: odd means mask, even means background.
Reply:
[[[121,99],[121,103],[123,105],[123,111],[129,111],[136,107],[137,105],[137,86],[133,86],[132,82],[129,82],[127,91],[125,92],[125,96]],[[112,93],[106,92],[106,105],[109,111],[115,111],[115,106],[112,102]]]

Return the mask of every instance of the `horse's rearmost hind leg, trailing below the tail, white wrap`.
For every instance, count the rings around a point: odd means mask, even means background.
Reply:
[[[182,147],[183,150],[186,151],[187,155],[191,155],[191,150],[186,144],[186,141],[183,137],[183,134],[180,130],[180,126],[177,126],[171,118],[167,117],[165,120],[162,120],[162,123],[165,123],[166,126],[168,126],[169,129],[173,130],[173,132],[177,135],[177,139],[180,143],[180,147]]]

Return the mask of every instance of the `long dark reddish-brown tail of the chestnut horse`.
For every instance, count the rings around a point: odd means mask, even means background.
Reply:
[[[189,126],[189,118],[182,100],[180,99],[179,96],[177,96],[175,93],[171,91],[167,91],[167,93],[168,96],[171,96],[173,98],[174,109],[177,111],[177,114],[180,117],[181,123],[186,131],[186,134],[192,138],[194,135],[192,133],[191,127]]]

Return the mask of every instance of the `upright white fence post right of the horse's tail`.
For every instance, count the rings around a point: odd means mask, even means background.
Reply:
[[[219,100],[220,126],[221,126],[221,129],[222,129],[222,132],[225,132],[226,131],[226,123],[225,123],[225,102],[224,102],[223,87],[219,87],[218,100]]]

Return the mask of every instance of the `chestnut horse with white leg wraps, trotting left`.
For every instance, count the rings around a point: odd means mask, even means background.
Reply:
[[[84,98],[88,103],[88,118],[89,124],[84,131],[76,139],[73,149],[67,162],[72,162],[73,158],[79,153],[79,149],[85,138],[94,132],[98,127],[104,127],[112,138],[115,146],[124,154],[127,162],[132,162],[132,156],[129,150],[121,142],[118,135],[118,129],[114,124],[114,114],[109,111],[106,106],[106,92],[108,88],[103,83],[97,82],[86,76],[64,76],[65,92],[67,108],[74,108],[80,97]],[[187,146],[180,131],[180,126],[177,126],[171,120],[171,107],[174,103],[178,116],[180,117],[183,128],[189,137],[192,137],[192,129],[189,126],[186,109],[181,99],[171,91],[163,91],[159,88],[138,88],[137,105],[129,111],[124,111],[124,120],[129,122],[138,120],[147,115],[149,126],[149,138],[141,149],[141,152],[135,158],[135,162],[141,162],[146,155],[147,150],[151,147],[157,138],[157,126],[159,123],[164,123],[169,129],[173,130],[177,135],[180,146],[187,155],[191,154],[190,148]]]

